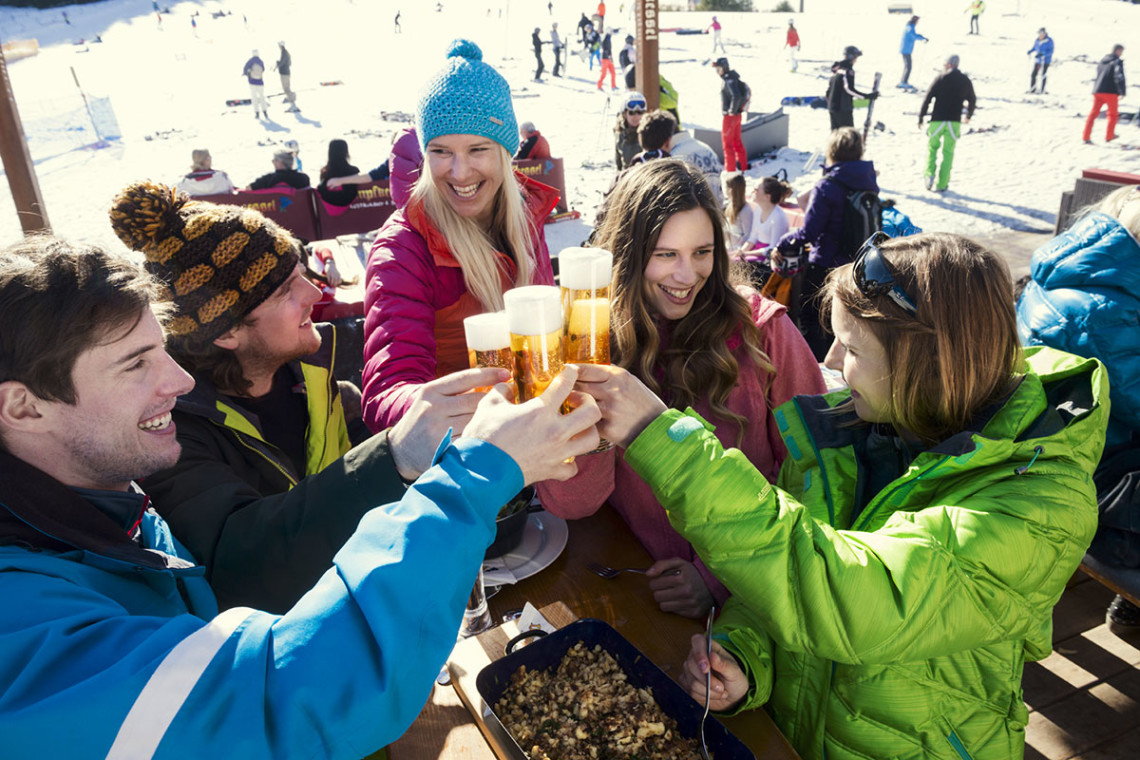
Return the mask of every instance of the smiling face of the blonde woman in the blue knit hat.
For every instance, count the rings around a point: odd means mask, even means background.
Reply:
[[[443,134],[427,144],[427,167],[435,189],[455,213],[490,229],[503,185],[503,148],[478,134]]]

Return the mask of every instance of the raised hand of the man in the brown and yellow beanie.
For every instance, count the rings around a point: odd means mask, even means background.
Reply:
[[[414,481],[431,467],[432,457],[447,428],[458,432],[471,422],[486,393],[472,393],[510,379],[511,373],[495,367],[464,369],[424,383],[412,406],[389,432],[388,443],[400,477]]]

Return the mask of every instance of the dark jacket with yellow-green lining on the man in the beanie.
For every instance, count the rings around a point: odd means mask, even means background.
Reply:
[[[206,567],[221,608],[285,613],[333,564],[373,507],[404,497],[378,434],[350,450],[334,377],[336,340],[290,365],[309,408],[304,473],[267,443],[254,415],[207,379],[178,399],[178,464],[140,481],[178,540]]]

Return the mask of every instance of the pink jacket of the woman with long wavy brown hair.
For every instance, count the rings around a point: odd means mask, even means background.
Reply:
[[[748,419],[748,430],[740,443],[749,461],[756,465],[768,481],[775,481],[780,465],[787,456],[783,439],[772,418],[772,410],[793,395],[823,393],[823,375],[812,350],[799,330],[788,318],[785,309],[755,291],[748,291],[752,304],[752,319],[760,328],[762,348],[775,367],[775,376],[765,391],[769,377],[744,352],[739,335],[733,356],[740,362],[736,387],[728,394],[728,409]],[[668,335],[662,330],[661,341]],[[662,346],[663,348],[663,346]],[[736,448],[738,426],[719,419],[707,401],[693,406],[705,419],[716,425],[716,436],[725,448]],[[728,590],[700,561],[693,547],[669,524],[665,509],[653,496],[653,489],[622,459],[617,448],[601,453],[578,457],[578,474],[564,482],[545,481],[538,484],[538,495],[547,512],[568,520],[585,517],[597,512],[609,500],[654,561],[681,557],[692,562],[705,583],[716,597],[717,605],[728,598]],[[604,557],[600,557],[604,561]]]

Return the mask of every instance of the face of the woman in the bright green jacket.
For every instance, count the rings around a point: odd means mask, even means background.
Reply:
[[[836,340],[824,366],[842,373],[850,386],[855,414],[869,423],[889,423],[890,363],[887,350],[870,329],[840,303],[831,300],[831,330]]]

